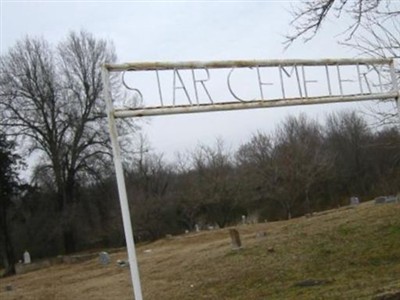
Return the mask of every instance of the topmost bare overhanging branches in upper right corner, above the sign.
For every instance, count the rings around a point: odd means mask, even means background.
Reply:
[[[398,18],[400,7],[397,1],[390,0],[314,0],[301,2],[292,9],[292,15],[294,32],[286,35],[287,46],[299,38],[312,39],[331,16],[337,19],[347,16],[352,20],[345,31],[350,39],[368,19]]]

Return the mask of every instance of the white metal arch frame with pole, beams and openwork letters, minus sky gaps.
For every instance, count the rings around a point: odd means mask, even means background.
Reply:
[[[356,74],[354,80],[342,78],[341,67],[346,66],[354,68]],[[326,75],[320,80],[325,80],[324,84],[327,86],[326,94],[317,96],[309,96],[307,87],[316,80],[308,80],[306,67],[321,68]],[[364,67],[364,72],[360,68]],[[231,83],[232,72],[238,69],[252,69],[255,70],[257,75],[257,85],[260,90],[260,98],[253,100],[243,100],[233,91]],[[290,68],[291,72],[287,70]],[[332,91],[332,68],[335,73],[335,81],[338,91]],[[205,70],[206,79],[198,79],[195,76],[194,70]],[[206,84],[211,79],[210,70],[227,69],[227,89],[232,95],[233,100],[224,102],[214,102],[207,89]],[[185,83],[179,72],[183,70],[192,71],[192,86],[195,91],[195,98],[197,101],[191,101],[189,92],[185,87]],[[260,75],[260,70],[274,71],[279,78],[277,85],[281,89],[281,98],[265,99],[263,89],[267,85],[271,85],[263,81]],[[111,93],[110,73],[112,72],[134,72],[134,71],[152,71],[156,75],[156,84],[159,88],[160,104],[142,108],[123,108],[118,109],[114,107],[113,96]],[[173,100],[165,101],[162,96],[160,88],[159,71],[170,71],[173,74]],[[368,73],[373,73],[373,79],[368,79]],[[330,73],[331,72],[331,73]],[[116,118],[133,118],[144,116],[156,115],[170,115],[170,114],[186,114],[186,113],[199,113],[199,112],[212,112],[224,110],[240,110],[251,108],[267,108],[279,106],[292,106],[292,105],[309,105],[309,104],[324,104],[334,102],[349,102],[349,101],[365,101],[365,100],[384,100],[393,99],[397,103],[398,115],[400,118],[400,91],[399,91],[399,78],[398,70],[395,67],[395,60],[388,59],[321,59],[321,60],[248,60],[248,61],[211,61],[211,62],[176,62],[176,63],[125,63],[125,64],[105,64],[102,68],[104,95],[107,103],[107,117],[109,122],[110,138],[113,149],[115,172],[118,184],[118,193],[121,205],[122,219],[125,231],[125,240],[127,244],[127,251],[129,256],[129,265],[131,271],[131,279],[134,289],[136,300],[142,300],[142,290],[139,278],[139,270],[136,259],[135,244],[133,239],[132,224],[129,213],[128,198],[126,193],[125,179],[123,174],[120,147],[118,144],[118,132],[115,123]],[[288,97],[287,89],[285,90],[285,76],[293,76],[296,84],[298,85],[298,94]],[[358,85],[358,91],[352,93],[345,93],[342,85],[345,82],[353,82]],[[375,82],[373,82],[375,81]],[[374,86],[375,88],[371,88]],[[126,86],[129,88],[128,86]],[[199,101],[197,89],[202,88],[207,95],[207,101]],[[130,88],[135,91],[139,97],[143,97],[142,93],[137,87]],[[182,89],[185,96],[189,100],[187,104],[177,105],[175,103],[175,91]]]

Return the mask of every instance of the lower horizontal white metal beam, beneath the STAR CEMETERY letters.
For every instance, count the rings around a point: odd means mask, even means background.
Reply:
[[[397,92],[367,95],[346,95],[346,96],[329,96],[329,97],[309,97],[309,98],[293,98],[280,100],[253,100],[246,102],[224,102],[224,103],[207,103],[199,105],[175,105],[163,107],[135,108],[135,109],[115,109],[114,116],[116,118],[145,117],[159,115],[175,115],[190,114],[213,111],[241,110],[267,107],[281,107],[293,105],[310,105],[310,104],[327,104],[335,102],[355,102],[367,100],[395,99],[398,97]]]

